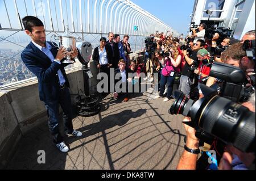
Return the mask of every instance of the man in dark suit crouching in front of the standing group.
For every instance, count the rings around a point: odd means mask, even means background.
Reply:
[[[113,96],[117,99],[119,95],[124,94],[125,99],[123,99],[123,101],[127,102],[129,97],[128,86],[133,81],[133,78],[129,77],[129,73],[131,73],[131,76],[133,73],[129,68],[126,68],[126,61],[123,59],[119,60],[118,66],[119,68],[115,69],[115,78],[119,77],[119,79],[115,79],[115,91]]]

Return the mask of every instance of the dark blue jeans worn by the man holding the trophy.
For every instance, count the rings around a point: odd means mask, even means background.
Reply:
[[[63,110],[65,132],[73,132],[71,97],[68,87],[64,87],[64,89],[60,90],[60,95],[57,100],[46,100],[44,103],[46,105],[47,116],[49,119],[48,126],[49,131],[53,136],[53,142],[59,144],[60,142],[63,142],[63,136],[61,136],[59,131],[59,105]]]

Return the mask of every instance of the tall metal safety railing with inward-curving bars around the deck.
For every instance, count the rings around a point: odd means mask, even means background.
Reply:
[[[175,30],[129,0],[0,0],[0,8],[0,89],[34,77],[20,59],[20,53],[30,42],[22,24],[27,15],[42,20],[47,40],[52,33],[61,34],[68,26],[73,36],[90,41],[93,47],[108,32],[119,33],[121,38],[128,34],[133,52],[142,50],[144,38],[156,31],[171,31],[177,36]]]

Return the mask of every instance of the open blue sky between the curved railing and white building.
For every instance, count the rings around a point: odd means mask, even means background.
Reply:
[[[179,33],[187,35],[194,0],[131,0]]]

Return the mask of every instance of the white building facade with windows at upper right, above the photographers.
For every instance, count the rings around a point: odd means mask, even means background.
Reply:
[[[191,22],[229,27],[231,36],[241,39],[247,31],[255,30],[255,0],[195,0]]]

